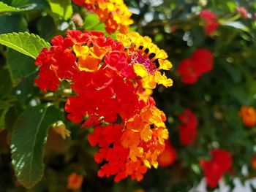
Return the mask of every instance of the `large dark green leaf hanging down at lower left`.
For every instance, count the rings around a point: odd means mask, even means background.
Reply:
[[[12,129],[12,164],[19,182],[31,188],[42,179],[43,155],[48,128],[63,115],[55,107],[43,104],[28,108]]]

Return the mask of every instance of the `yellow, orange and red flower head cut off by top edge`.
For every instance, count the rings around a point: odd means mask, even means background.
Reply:
[[[73,2],[95,12],[99,20],[105,22],[105,29],[109,34],[113,34],[116,30],[126,34],[133,23],[130,18],[132,12],[129,12],[123,0],[73,0]]]

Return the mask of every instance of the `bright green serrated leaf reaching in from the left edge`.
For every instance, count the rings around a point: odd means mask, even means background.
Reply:
[[[50,44],[45,42],[44,39],[27,32],[1,34],[0,44],[17,50],[18,52],[28,55],[34,59],[39,55],[43,47],[50,47]]]

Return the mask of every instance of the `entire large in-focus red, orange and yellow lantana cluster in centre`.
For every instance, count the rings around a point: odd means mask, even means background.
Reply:
[[[99,31],[67,31],[51,40],[36,59],[42,91],[56,91],[69,82],[73,95],[65,105],[67,118],[94,127],[89,143],[102,164],[99,177],[128,176],[138,181],[157,168],[168,131],[165,113],[150,96],[156,85],[172,85],[162,71],[172,66],[167,54],[136,32],[118,34],[118,41]],[[161,70],[161,71],[160,71]]]

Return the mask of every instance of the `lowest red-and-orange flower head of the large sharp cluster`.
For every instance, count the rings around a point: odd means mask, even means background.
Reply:
[[[165,116],[156,107],[146,107],[129,119],[126,126],[94,128],[88,139],[92,146],[99,145],[95,161],[107,162],[99,170],[99,177],[116,175],[118,182],[129,175],[140,181],[148,168],[157,168],[157,157],[165,149],[168,137],[163,120]]]

